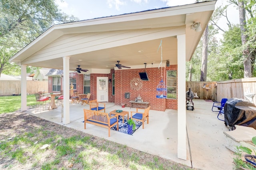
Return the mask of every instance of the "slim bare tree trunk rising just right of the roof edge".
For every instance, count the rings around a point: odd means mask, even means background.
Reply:
[[[208,59],[208,25],[206,25],[203,39],[202,39],[202,62],[201,62],[201,77],[200,77],[201,82],[206,81],[207,59]]]

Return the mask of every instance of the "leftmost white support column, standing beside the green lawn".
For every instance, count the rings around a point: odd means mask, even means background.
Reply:
[[[27,110],[27,65],[21,65],[21,108],[20,111]]]

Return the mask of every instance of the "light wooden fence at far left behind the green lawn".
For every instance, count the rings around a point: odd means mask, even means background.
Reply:
[[[20,87],[20,80],[0,80],[0,96],[20,94]],[[43,90],[48,93],[48,82],[27,81],[27,93],[34,94]]]

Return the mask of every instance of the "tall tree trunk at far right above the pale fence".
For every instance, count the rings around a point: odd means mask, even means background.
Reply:
[[[246,36],[245,34],[246,18],[245,18],[244,0],[238,0],[238,10],[239,10],[242,46],[245,46],[246,42],[248,41],[248,36]],[[244,78],[252,77],[252,61],[249,54],[250,54],[249,47],[246,45],[243,48]]]

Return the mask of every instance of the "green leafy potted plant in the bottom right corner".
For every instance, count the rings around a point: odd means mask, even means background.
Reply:
[[[256,137],[252,138],[252,142],[254,145],[256,145]],[[240,170],[255,170],[256,166],[253,163],[256,163],[256,156],[252,155],[252,150],[254,151],[254,154],[256,154],[254,149],[250,149],[248,147],[237,147],[238,152],[236,152],[236,157],[234,158],[234,164],[236,169]],[[247,154],[244,154],[244,158],[246,161],[243,160],[243,154],[241,151],[246,152]],[[249,161],[248,161],[249,160]]]

